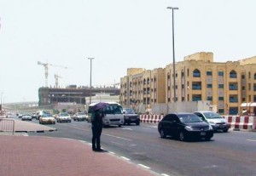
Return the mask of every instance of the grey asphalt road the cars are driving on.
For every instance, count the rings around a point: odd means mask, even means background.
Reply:
[[[57,131],[29,135],[91,140],[88,122],[49,126]],[[256,133],[253,132],[214,133],[211,141],[181,142],[160,139],[155,124],[142,123],[103,128],[102,147],[162,175],[256,175]]]

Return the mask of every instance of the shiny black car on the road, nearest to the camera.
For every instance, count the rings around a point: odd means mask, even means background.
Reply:
[[[167,114],[160,120],[158,131],[161,138],[170,135],[179,140],[210,140],[213,137],[212,126],[193,113]]]

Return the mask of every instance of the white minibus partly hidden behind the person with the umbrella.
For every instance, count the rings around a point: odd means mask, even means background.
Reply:
[[[103,127],[108,127],[111,125],[118,125],[121,127],[124,125],[124,114],[123,114],[123,107],[116,102],[106,102],[109,105],[104,108],[105,116],[103,118]],[[88,122],[91,122],[91,115],[92,115],[92,107],[97,103],[92,103],[89,105],[88,109]]]

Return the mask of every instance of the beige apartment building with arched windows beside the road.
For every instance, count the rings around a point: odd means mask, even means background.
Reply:
[[[153,71],[128,69],[120,81],[120,103],[146,108],[173,103],[174,80],[177,102],[207,100],[220,114],[236,115],[242,103],[256,102],[256,57],[213,62],[210,52],[191,54],[175,64],[175,79],[172,64]]]

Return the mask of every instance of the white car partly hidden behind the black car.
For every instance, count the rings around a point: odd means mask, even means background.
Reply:
[[[214,131],[229,131],[230,124],[218,113],[212,111],[195,111],[194,114],[201,117],[201,120],[208,122]]]

